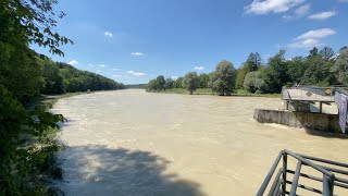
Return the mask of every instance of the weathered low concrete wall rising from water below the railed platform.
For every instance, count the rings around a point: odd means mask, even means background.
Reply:
[[[253,119],[260,123],[276,123],[291,127],[341,133],[337,114],[256,109]]]

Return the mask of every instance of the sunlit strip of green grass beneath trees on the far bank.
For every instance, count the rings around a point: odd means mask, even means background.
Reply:
[[[160,93],[160,94],[187,94],[188,91],[185,88],[170,88],[161,91],[150,91],[150,93]],[[194,95],[214,95],[211,88],[198,88]],[[281,98],[281,94],[252,94],[245,89],[236,89],[232,96],[237,97],[270,97],[270,98]]]

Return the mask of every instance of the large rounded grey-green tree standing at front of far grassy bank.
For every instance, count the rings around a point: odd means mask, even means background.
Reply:
[[[221,61],[211,74],[210,86],[219,95],[231,95],[235,87],[236,70],[228,61]]]

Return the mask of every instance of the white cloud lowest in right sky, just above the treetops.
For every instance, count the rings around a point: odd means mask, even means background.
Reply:
[[[290,48],[312,48],[324,45],[321,39],[335,35],[336,32],[331,28],[322,28],[316,30],[309,30],[297,36],[294,42],[289,44]]]

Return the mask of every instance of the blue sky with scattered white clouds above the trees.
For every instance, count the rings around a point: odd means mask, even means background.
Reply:
[[[250,52],[307,54],[348,45],[348,0],[60,0],[57,30],[73,39],[51,56],[124,84],[162,74],[209,73],[223,59],[239,68]]]

